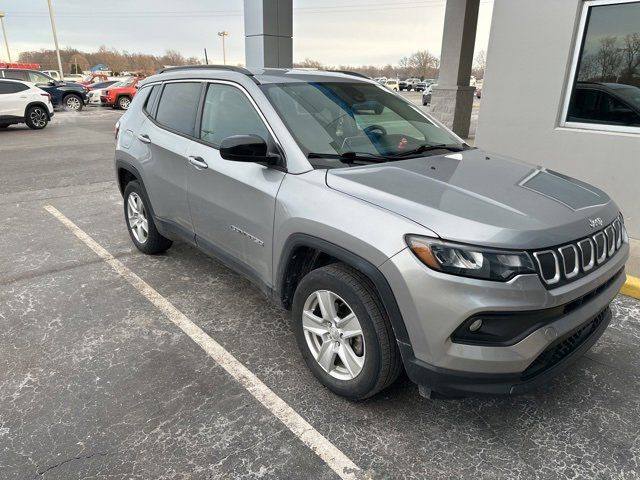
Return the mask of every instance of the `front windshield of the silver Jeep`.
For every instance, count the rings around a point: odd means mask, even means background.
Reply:
[[[391,160],[421,147],[465,147],[419,107],[378,85],[313,82],[261,88],[309,156],[355,152]]]

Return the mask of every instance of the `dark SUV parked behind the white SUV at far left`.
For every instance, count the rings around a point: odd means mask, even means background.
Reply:
[[[59,82],[37,70],[1,68],[0,78],[35,83],[38,88],[51,95],[54,107],[63,107],[65,110],[79,112],[87,104],[87,87],[79,83]]]

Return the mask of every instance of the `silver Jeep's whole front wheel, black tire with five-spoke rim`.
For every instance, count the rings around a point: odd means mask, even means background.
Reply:
[[[335,325],[328,327],[331,324],[319,318],[323,314],[317,292],[325,299],[333,298],[334,301],[327,303],[325,300],[323,304],[334,305],[338,319]],[[338,328],[339,321],[347,318],[349,311],[355,315],[358,328],[354,328],[353,320]],[[374,287],[364,275],[347,265],[335,263],[309,272],[296,288],[291,320],[307,367],[320,383],[338,395],[351,400],[371,397],[391,385],[402,370],[391,324]],[[323,326],[317,323],[318,320]],[[322,333],[325,340],[320,342],[318,332],[325,330],[327,332]],[[360,331],[361,335],[343,338],[355,331]],[[349,350],[355,354],[350,358],[360,362],[357,365],[352,361],[354,368],[347,368],[347,363],[342,361],[345,355],[349,356],[346,353]],[[324,358],[331,357],[325,362],[325,365],[330,364],[329,370],[316,360],[323,358],[323,351],[325,354],[333,352],[324,355]],[[353,375],[352,370],[358,373]]]

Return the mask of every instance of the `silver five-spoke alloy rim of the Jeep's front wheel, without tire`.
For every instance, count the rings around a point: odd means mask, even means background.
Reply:
[[[302,309],[307,347],[322,369],[339,380],[353,380],[365,362],[362,326],[351,307],[329,290],[313,292]]]

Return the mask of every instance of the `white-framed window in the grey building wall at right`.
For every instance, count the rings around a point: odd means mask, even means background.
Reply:
[[[584,4],[563,126],[640,133],[640,1]]]

